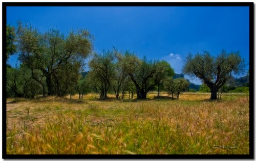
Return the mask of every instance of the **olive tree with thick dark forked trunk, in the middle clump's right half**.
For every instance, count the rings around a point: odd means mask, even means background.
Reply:
[[[148,91],[159,87],[168,75],[174,74],[167,62],[148,61],[145,57],[140,60],[129,51],[124,53],[123,62],[123,68],[135,85],[137,99],[146,99]]]

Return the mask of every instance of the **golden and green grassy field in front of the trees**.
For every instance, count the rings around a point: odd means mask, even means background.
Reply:
[[[249,154],[248,95],[154,95],[8,98],[7,154]]]

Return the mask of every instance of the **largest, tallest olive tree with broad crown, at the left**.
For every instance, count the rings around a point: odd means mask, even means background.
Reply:
[[[83,59],[93,48],[93,38],[87,30],[71,30],[65,36],[58,29],[40,33],[32,25],[18,22],[17,36],[19,60],[32,73],[35,70],[42,72],[41,78],[32,77],[42,86],[44,93],[44,84],[47,84],[48,95],[63,96],[76,85]]]

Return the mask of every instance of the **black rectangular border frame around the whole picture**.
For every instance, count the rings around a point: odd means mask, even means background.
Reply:
[[[197,159],[217,159],[217,158],[226,158],[226,159],[254,159],[254,4],[253,2],[238,2],[238,3],[212,3],[212,2],[189,2],[189,3],[179,3],[179,2],[77,2],[77,3],[60,3],[60,2],[3,2],[2,3],[2,14],[3,14],[3,24],[2,24],[2,35],[3,35],[3,62],[2,62],[2,67],[3,67],[3,79],[2,79],[2,85],[3,85],[3,117],[2,117],[2,125],[3,125],[3,156],[2,158],[4,159],[12,159],[12,158],[23,158],[23,159],[43,159],[43,158],[59,158],[59,159],[85,159],[85,158],[104,158],[104,159],[132,159],[132,158],[143,158],[143,159],[170,159],[170,158],[197,158]],[[183,155],[153,155],[153,154],[144,154],[144,155],[129,155],[129,154],[102,154],[102,155],[93,155],[93,154],[82,154],[82,155],[71,155],[71,154],[30,154],[30,155],[24,155],[24,154],[7,154],[6,150],[6,24],[7,24],[7,17],[6,17],[6,9],[7,7],[24,7],[24,6],[145,6],[145,7],[150,7],[150,6],[180,6],[180,7],[220,7],[220,6],[230,6],[230,7],[235,7],[235,6],[245,6],[249,7],[249,71],[250,71],[250,76],[249,76],[249,82],[250,82],[250,91],[249,91],[249,154],[183,154]]]

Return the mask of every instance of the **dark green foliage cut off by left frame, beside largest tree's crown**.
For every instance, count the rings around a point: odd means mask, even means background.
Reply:
[[[11,25],[6,26],[6,59],[9,58],[10,55],[13,55],[16,52],[15,45],[15,29]]]

